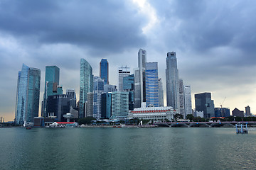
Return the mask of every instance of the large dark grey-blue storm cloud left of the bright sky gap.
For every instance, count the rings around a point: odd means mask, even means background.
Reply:
[[[137,11],[125,1],[1,1],[0,30],[39,43],[102,51],[145,44]]]

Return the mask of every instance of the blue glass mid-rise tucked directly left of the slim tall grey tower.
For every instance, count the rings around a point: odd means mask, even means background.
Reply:
[[[134,110],[134,74],[124,77],[123,89],[129,93],[129,111]]]

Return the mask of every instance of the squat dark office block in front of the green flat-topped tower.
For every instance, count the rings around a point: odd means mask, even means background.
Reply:
[[[67,94],[48,96],[47,117],[55,117],[65,122],[63,115],[70,112],[70,98]]]

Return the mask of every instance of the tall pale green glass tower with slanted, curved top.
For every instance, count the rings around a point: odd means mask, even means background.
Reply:
[[[85,117],[85,102],[87,94],[93,91],[92,67],[85,60],[80,60],[80,100],[79,100],[79,118]]]

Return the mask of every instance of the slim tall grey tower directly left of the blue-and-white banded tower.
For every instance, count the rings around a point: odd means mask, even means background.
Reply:
[[[139,49],[138,52],[138,68],[134,69],[134,108],[140,108],[142,102],[146,102],[146,50]]]

